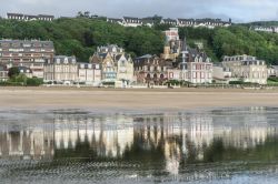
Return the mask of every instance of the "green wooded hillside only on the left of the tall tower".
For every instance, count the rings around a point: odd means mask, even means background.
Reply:
[[[118,44],[133,57],[162,52],[161,31],[149,28],[123,28],[99,19],[73,18],[47,21],[0,20],[0,38],[40,39],[54,42],[57,54],[76,55],[88,61],[98,45]]]

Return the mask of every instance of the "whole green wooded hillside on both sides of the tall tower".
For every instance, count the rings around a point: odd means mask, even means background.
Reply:
[[[170,25],[153,28],[125,28],[98,18],[61,18],[52,22],[0,20],[0,38],[41,39],[54,42],[57,54],[76,55],[88,61],[98,45],[118,44],[133,57],[146,53],[160,54],[165,38],[161,31]],[[246,25],[230,28],[180,28],[180,38],[187,37],[189,45],[202,42],[215,62],[224,55],[250,54],[278,64],[278,34],[255,32]]]

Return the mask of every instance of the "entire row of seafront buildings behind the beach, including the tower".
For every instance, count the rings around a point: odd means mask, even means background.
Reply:
[[[97,48],[88,62],[56,55],[51,41],[0,40],[0,80],[8,79],[8,70],[12,67],[19,67],[29,78],[37,76],[49,83],[107,83],[119,88],[161,85],[169,81],[266,84],[268,76],[278,74],[278,68],[267,68],[265,61],[250,55],[225,57],[222,62],[214,64],[201,49],[190,48],[186,39],[180,40],[178,28],[165,31],[165,37],[160,55],[132,59],[123,48],[110,44]]]

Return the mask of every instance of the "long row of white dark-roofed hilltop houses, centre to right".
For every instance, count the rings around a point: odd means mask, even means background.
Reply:
[[[172,27],[206,27],[214,29],[216,27],[229,27],[231,25],[231,19],[229,21],[222,21],[221,19],[162,19],[161,17],[153,18],[132,18],[123,17],[121,19],[107,18],[107,22],[118,23],[123,27],[152,27],[155,23],[170,24]]]

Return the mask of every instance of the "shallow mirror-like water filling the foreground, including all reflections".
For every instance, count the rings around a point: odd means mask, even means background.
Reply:
[[[278,109],[0,111],[0,183],[277,183]]]

